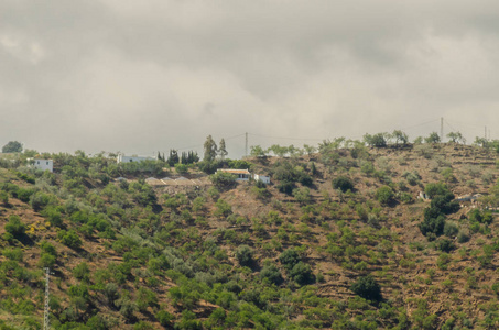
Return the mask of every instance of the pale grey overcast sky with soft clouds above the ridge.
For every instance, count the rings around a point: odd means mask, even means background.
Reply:
[[[498,139],[498,1],[2,0],[0,145]]]

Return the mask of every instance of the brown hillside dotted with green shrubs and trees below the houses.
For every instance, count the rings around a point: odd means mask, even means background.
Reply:
[[[495,151],[324,143],[215,164],[269,186],[50,156],[54,174],[1,163],[0,329],[41,329],[43,267],[53,329],[499,327]]]

